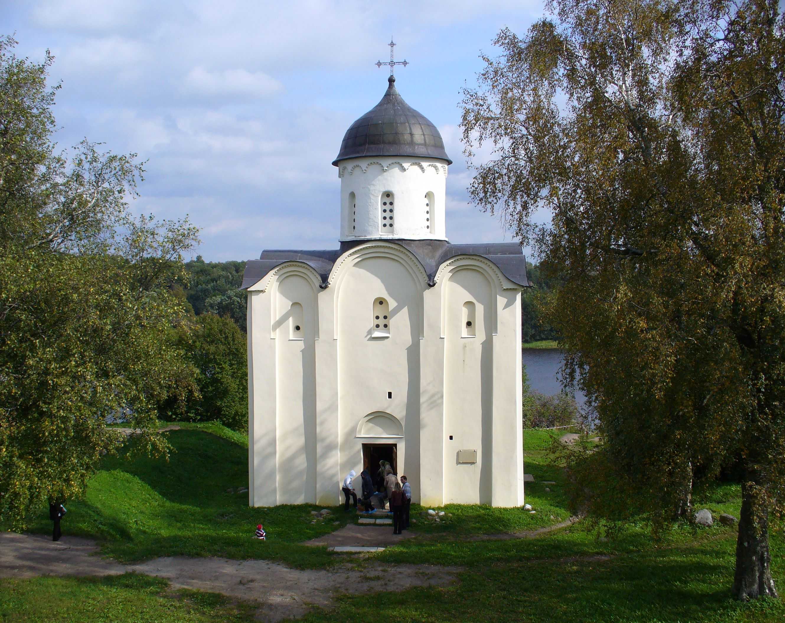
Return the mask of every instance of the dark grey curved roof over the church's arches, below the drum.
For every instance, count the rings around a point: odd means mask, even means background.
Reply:
[[[243,275],[243,290],[250,288],[258,282],[273,268],[284,262],[303,262],[308,264],[322,279],[321,286],[326,288],[330,285],[327,281],[330,271],[344,253],[355,246],[365,244],[368,240],[354,240],[352,242],[341,242],[341,248],[336,250],[323,251],[299,251],[299,250],[265,250],[261,252],[258,260],[250,260],[246,264],[245,274]],[[515,242],[499,242],[497,244],[476,244],[476,245],[451,245],[444,240],[403,240],[393,239],[385,242],[394,242],[417,257],[422,268],[428,274],[429,286],[434,285],[436,272],[439,267],[451,257],[456,255],[478,255],[495,264],[502,275],[519,286],[528,287],[526,279],[526,257],[520,245]]]

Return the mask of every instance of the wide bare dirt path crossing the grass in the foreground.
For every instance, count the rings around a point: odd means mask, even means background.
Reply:
[[[340,592],[447,585],[456,581],[459,571],[455,567],[386,564],[383,574],[371,575],[349,564],[330,570],[297,570],[266,560],[186,556],[123,565],[94,556],[97,552],[97,544],[89,539],[63,537],[62,541],[53,543],[38,534],[0,533],[0,577],[136,572],[165,577],[176,588],[255,600],[261,604],[258,614],[262,620],[280,621],[300,617],[314,605],[330,607],[333,597]]]

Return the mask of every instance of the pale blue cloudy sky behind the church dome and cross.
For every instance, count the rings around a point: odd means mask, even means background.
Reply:
[[[193,253],[248,260],[263,249],[338,246],[340,180],[330,164],[352,122],[396,88],[440,130],[451,242],[511,242],[469,203],[458,127],[496,33],[520,35],[542,2],[147,2],[3,0],[17,56],[55,56],[60,147],[87,137],[147,161],[135,213],[201,228]]]

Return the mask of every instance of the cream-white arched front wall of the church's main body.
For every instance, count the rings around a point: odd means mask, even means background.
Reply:
[[[337,504],[343,476],[362,470],[363,443],[397,444],[415,501],[523,504],[520,286],[466,256],[429,287],[418,260],[388,241],[354,247],[329,287],[319,281],[287,262],[249,289],[250,504]],[[379,297],[389,337],[373,337]],[[467,302],[474,337],[462,331]],[[458,450],[476,450],[476,464],[459,464]]]

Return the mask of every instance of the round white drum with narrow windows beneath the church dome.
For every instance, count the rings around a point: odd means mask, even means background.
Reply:
[[[437,158],[350,158],[340,163],[338,176],[341,178],[342,241],[447,239],[444,224],[446,161]],[[388,198],[387,194],[392,196]],[[383,205],[390,199],[394,199],[392,213],[389,205]]]

